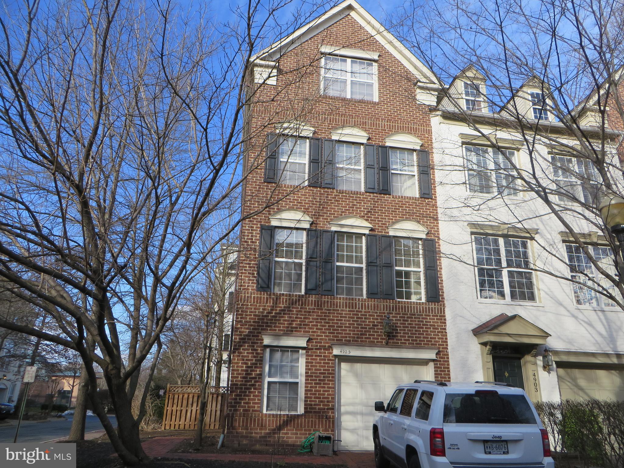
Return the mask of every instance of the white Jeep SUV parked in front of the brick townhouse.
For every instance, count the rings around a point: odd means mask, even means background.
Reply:
[[[416,380],[373,424],[375,464],[401,468],[554,468],[548,433],[524,390]]]

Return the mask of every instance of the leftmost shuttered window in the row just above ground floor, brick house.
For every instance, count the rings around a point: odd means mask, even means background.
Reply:
[[[275,293],[303,292],[303,246],[305,231],[301,229],[275,230],[275,260],[273,291]]]

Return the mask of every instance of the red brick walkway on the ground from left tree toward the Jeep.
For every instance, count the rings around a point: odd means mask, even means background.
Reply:
[[[229,462],[270,462],[270,455],[263,454],[181,454],[170,451],[185,437],[154,437],[143,442],[149,457],[183,458],[193,460],[221,460]],[[348,468],[374,468],[373,452],[338,452],[335,457],[287,456],[280,457],[286,463],[309,463],[323,465],[346,465]]]

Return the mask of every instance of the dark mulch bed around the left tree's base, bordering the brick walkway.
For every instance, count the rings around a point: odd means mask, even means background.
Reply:
[[[150,432],[142,432],[141,439],[150,439],[152,437],[162,437],[162,436],[176,436],[176,437],[192,437],[193,431],[150,431]],[[213,437],[212,434],[208,434],[208,437]],[[207,439],[208,439],[207,437]],[[212,441],[212,439],[210,439]],[[185,441],[187,442],[187,441]],[[217,435],[218,442],[218,435]],[[188,442],[189,446],[191,442]],[[180,444],[182,446],[182,444]],[[179,446],[178,446],[179,447]],[[207,445],[208,447],[208,445]],[[215,442],[216,447],[216,442]],[[223,454],[251,454],[251,453],[263,453],[267,452],[246,452],[241,451],[240,449],[226,452],[225,447],[223,447],[219,452]],[[296,452],[296,449],[294,449]],[[178,449],[176,451],[180,452]],[[189,451],[192,453],[198,453],[197,451]],[[207,449],[203,449],[199,453],[212,453],[207,451]],[[182,453],[182,452],[180,452]],[[269,452],[270,453],[270,452]],[[113,450],[112,445],[110,444],[108,438],[106,436],[99,437],[98,439],[93,439],[91,441],[80,441],[76,444],[76,468],[122,468],[124,464],[114,456],[115,451]],[[291,452],[288,452],[291,454]],[[172,454],[173,455],[173,454]],[[288,463],[288,464],[280,464],[279,457],[276,457],[276,461],[274,463],[275,467],[280,468],[318,468],[316,464],[310,464],[305,462],[305,457],[302,459],[301,463]],[[270,462],[224,462],[221,460],[191,460],[191,459],[175,459],[175,458],[155,458],[145,463],[143,466],[145,467],[154,467],[154,468],[271,468]],[[341,468],[343,465],[335,465],[335,466],[323,466],[323,468]]]

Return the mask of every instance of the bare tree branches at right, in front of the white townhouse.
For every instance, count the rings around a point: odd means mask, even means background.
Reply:
[[[624,238],[600,210],[611,218],[608,203],[624,195],[623,12],[621,1],[427,1],[396,25],[436,74],[437,115],[475,135],[455,147],[436,135],[437,183],[469,187],[444,217],[526,233],[553,220],[570,251],[536,239],[524,266],[572,282],[577,303],[618,308]]]

